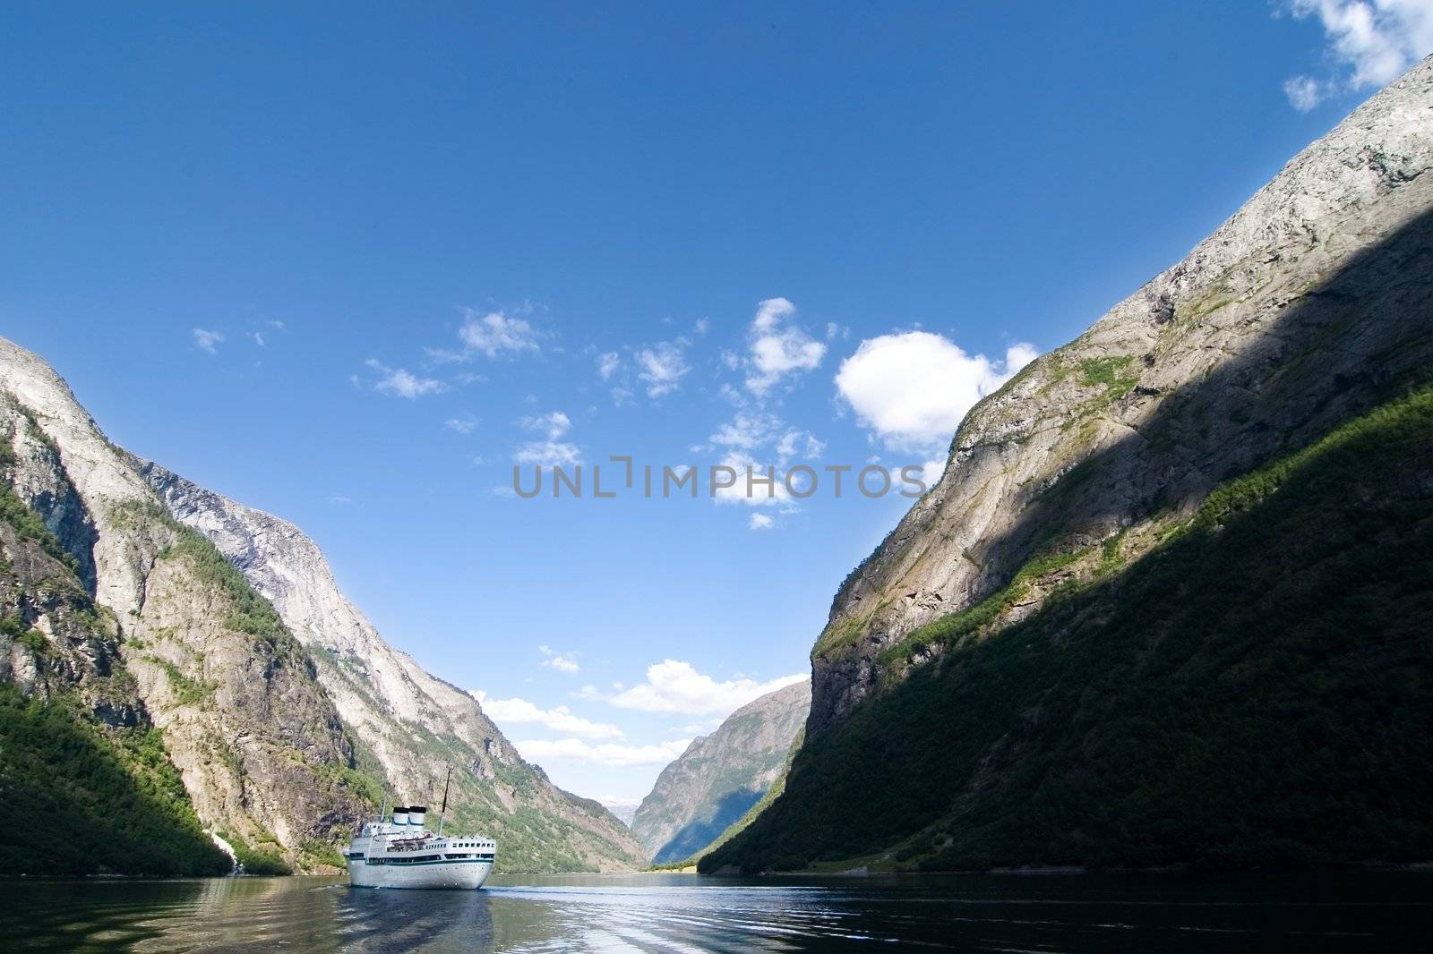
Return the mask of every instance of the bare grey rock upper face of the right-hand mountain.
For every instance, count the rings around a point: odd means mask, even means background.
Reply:
[[[1138,556],[1227,476],[1427,365],[1430,166],[1433,59],[976,405],[940,483],[837,592],[811,656],[808,733],[898,680],[907,663],[881,652],[927,623],[1012,580],[999,617],[1027,615],[1062,557],[1101,543]]]

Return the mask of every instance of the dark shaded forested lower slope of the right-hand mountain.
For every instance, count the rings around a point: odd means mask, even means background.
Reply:
[[[1433,388],[807,741],[701,869],[1433,858]]]

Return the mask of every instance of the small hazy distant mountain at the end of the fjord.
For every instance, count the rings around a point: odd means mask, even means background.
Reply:
[[[632,818],[652,862],[691,858],[739,819],[781,774],[810,709],[808,680],[768,692],[662,769]]]

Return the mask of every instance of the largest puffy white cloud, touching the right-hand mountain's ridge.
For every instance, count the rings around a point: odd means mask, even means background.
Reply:
[[[897,450],[933,450],[949,443],[966,413],[1039,352],[1012,345],[1005,361],[969,355],[929,331],[868,338],[835,375],[866,427]]]

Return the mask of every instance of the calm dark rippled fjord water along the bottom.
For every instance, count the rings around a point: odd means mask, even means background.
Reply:
[[[335,878],[7,881],[4,950],[1433,950],[1433,872],[1224,878],[497,875],[476,892]]]

